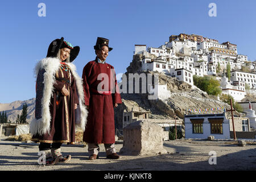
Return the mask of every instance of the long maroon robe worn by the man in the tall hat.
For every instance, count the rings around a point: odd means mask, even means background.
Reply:
[[[102,85],[102,80],[97,80],[101,73],[105,73],[109,78],[102,79],[107,83],[101,87],[105,93],[97,91],[98,85]],[[85,105],[89,106],[84,142],[115,143],[114,104],[122,104],[122,99],[114,67],[108,63],[98,63],[96,57],[96,60],[85,65],[82,79]]]

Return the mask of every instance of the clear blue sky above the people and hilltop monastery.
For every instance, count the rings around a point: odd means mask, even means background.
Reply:
[[[209,3],[217,16],[210,17]],[[39,3],[46,17],[39,17]],[[35,97],[33,69],[46,57],[49,43],[64,37],[81,51],[73,62],[82,69],[94,60],[98,36],[110,39],[108,63],[125,73],[133,59],[134,44],[159,47],[170,35],[197,34],[220,43],[237,44],[238,54],[256,60],[256,1],[59,1],[23,0],[0,2],[0,103]]]

